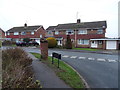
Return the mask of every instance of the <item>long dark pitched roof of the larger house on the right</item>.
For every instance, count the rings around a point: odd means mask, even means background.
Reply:
[[[54,29],[64,30],[64,29],[79,29],[79,28],[103,28],[103,26],[107,28],[106,21],[58,24]],[[51,30],[50,27],[48,27],[47,30]]]

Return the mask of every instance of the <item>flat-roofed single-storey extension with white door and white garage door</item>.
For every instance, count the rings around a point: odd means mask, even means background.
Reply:
[[[90,39],[91,48],[98,49],[120,49],[120,39],[118,38],[101,38],[101,39]]]

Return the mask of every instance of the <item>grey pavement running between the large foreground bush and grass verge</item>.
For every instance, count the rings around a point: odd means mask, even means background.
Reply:
[[[70,88],[62,80],[60,80],[55,72],[47,65],[43,64],[39,59],[32,54],[28,56],[33,59],[32,67],[35,75],[35,80],[39,80],[43,88]]]

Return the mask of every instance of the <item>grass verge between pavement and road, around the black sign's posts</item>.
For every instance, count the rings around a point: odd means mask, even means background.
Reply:
[[[40,54],[32,53],[36,58],[40,58]],[[60,77],[60,79],[64,80],[66,84],[71,86],[72,88],[85,88],[81,78],[79,75],[67,64],[60,60],[60,68],[57,68],[57,59],[54,59],[54,64],[52,64],[52,58],[48,57],[48,60],[41,60],[43,63],[47,64],[50,68],[52,68],[56,75]]]

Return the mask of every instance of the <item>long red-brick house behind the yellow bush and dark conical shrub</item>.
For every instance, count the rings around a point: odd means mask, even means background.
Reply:
[[[105,38],[106,21],[58,24],[46,29],[46,37],[55,37],[58,45],[65,45],[69,34],[74,47],[90,47],[90,39]]]

